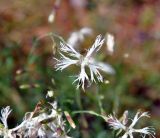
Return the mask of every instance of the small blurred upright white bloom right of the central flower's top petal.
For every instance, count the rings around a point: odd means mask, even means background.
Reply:
[[[106,45],[107,45],[107,50],[112,54],[114,52],[114,36],[112,34],[107,33],[106,34]]]

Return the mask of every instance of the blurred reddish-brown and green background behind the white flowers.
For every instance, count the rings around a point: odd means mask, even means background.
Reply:
[[[52,23],[48,22],[50,14],[54,15]],[[116,74],[104,73],[109,83],[93,84],[85,93],[79,93],[72,85],[74,78],[69,77],[77,69],[55,71],[50,37],[38,39],[53,32],[67,40],[82,27],[92,28],[93,33],[81,44],[81,52],[98,34],[115,36],[114,53],[109,54],[104,44],[97,58],[111,64]],[[55,41],[58,47],[59,40]],[[13,108],[10,127],[20,123],[47,90],[53,90],[59,106],[71,113],[77,125],[71,136],[112,138],[114,132],[102,119],[72,114],[82,109],[100,113],[97,86],[106,114],[114,111],[120,117],[129,110],[133,117],[138,109],[149,111],[151,118],[139,126],[154,126],[160,138],[159,0],[0,1],[0,107]]]

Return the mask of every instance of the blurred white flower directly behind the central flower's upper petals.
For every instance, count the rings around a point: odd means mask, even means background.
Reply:
[[[83,27],[79,31],[72,32],[67,40],[67,43],[72,47],[78,47],[82,43],[86,36],[92,35],[93,31],[89,27]]]

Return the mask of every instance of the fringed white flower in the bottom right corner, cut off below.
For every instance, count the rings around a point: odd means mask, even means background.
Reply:
[[[121,120],[117,119],[115,116],[109,115],[107,122],[109,123],[109,126],[111,126],[112,129],[120,130],[120,132],[124,131],[124,134],[122,135],[121,138],[128,138],[128,137],[133,138],[133,133],[140,133],[143,138],[145,138],[146,135],[155,138],[155,132],[153,127],[144,127],[142,129],[134,128],[139,119],[142,117],[150,117],[150,116],[148,112],[144,113],[137,112],[134,119],[132,120],[132,123],[129,126],[126,125],[128,122],[128,116],[124,115]]]

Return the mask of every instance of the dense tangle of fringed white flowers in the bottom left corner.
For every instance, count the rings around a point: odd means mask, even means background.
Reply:
[[[65,131],[62,113],[57,109],[57,103],[49,103],[48,111],[38,106],[34,112],[25,114],[23,122],[15,128],[8,129],[7,118],[11,113],[9,106],[1,110],[0,136],[4,138],[69,138]]]

